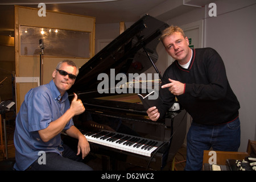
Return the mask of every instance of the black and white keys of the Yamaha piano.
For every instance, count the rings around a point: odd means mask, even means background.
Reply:
[[[122,151],[132,152],[134,154],[151,156],[151,153],[162,144],[157,140],[151,140],[141,137],[134,137],[121,133],[100,130],[96,132],[89,131],[84,133],[88,142],[101,144]]]

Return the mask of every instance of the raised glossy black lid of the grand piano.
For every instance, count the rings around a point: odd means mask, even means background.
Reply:
[[[115,75],[145,72],[152,67],[151,61],[155,63],[158,60],[156,46],[159,43],[161,31],[167,27],[168,24],[150,15],[144,15],[82,65],[75,84],[68,90],[68,93],[96,93],[97,85],[102,81],[97,80],[100,73],[108,74],[109,80],[114,79],[110,78],[110,69],[115,69]],[[151,61],[143,47],[150,55]]]

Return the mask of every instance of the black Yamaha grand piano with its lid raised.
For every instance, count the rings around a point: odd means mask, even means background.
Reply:
[[[104,161],[102,169],[119,170],[117,163],[122,162],[161,170],[183,144],[185,112],[170,110],[166,118],[154,122],[137,96],[159,89],[162,77],[155,66],[156,46],[166,27],[168,24],[144,15],[82,65],[68,91],[70,98],[75,92],[84,103],[85,113],[74,122],[88,139],[91,153]],[[155,77],[150,80],[129,75],[141,75],[151,67]],[[122,81],[120,75],[125,77]]]

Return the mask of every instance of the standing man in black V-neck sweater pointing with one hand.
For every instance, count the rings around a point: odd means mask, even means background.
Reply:
[[[240,104],[230,88],[225,65],[212,48],[189,48],[179,27],[162,32],[162,43],[175,61],[163,75],[163,104],[147,110],[152,121],[163,118],[175,97],[193,118],[187,134],[185,170],[200,170],[203,151],[237,151],[240,146]]]

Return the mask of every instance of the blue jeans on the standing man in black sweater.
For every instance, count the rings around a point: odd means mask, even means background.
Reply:
[[[187,162],[184,170],[200,171],[204,150],[238,151],[240,119],[222,125],[206,126],[193,123],[187,134]]]

